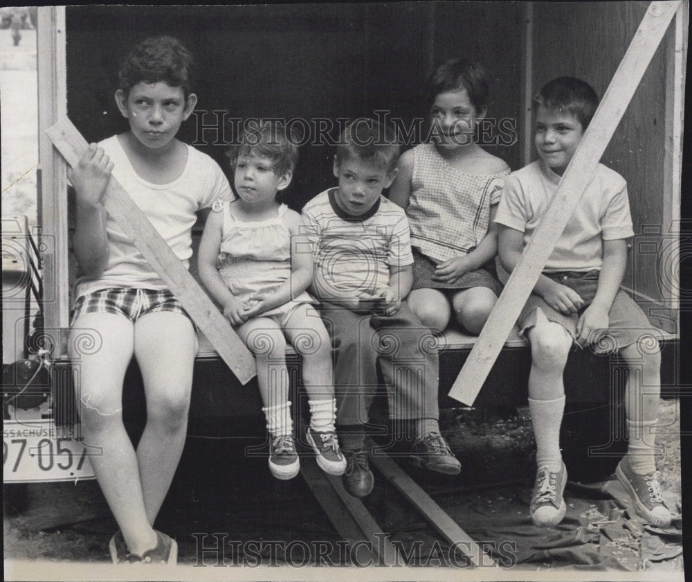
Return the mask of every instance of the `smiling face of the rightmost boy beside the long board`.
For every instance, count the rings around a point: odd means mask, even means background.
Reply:
[[[557,175],[563,175],[584,135],[581,121],[569,111],[538,105],[536,112],[536,150]]]

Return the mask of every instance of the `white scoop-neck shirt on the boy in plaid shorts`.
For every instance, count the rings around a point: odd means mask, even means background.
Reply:
[[[170,184],[152,184],[135,173],[118,136],[111,136],[99,145],[113,161],[113,176],[188,268],[192,256],[192,226],[197,220],[195,212],[211,206],[215,200],[234,198],[219,164],[188,145],[188,161],[180,177]],[[107,216],[106,231],[108,266],[98,279],[78,279],[75,298],[110,287],[166,288],[110,215]]]

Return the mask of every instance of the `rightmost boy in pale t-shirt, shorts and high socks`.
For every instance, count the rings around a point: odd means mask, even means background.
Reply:
[[[536,103],[540,160],[507,177],[495,215],[502,225],[500,261],[509,272],[543,220],[599,99],[587,83],[561,77],[541,89]],[[642,518],[662,527],[671,522],[654,462],[659,346],[644,312],[619,288],[627,264],[626,239],[633,234],[626,182],[599,164],[518,319],[531,343],[529,409],[538,474],[529,512],[537,525],[554,526],[565,515],[563,370],[575,342],[599,353],[619,350],[626,361],[629,444],[616,475]]]

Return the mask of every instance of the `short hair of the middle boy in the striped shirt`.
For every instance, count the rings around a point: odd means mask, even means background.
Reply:
[[[399,141],[394,130],[376,119],[354,119],[336,146],[336,163],[340,166],[346,159],[365,161],[392,173],[399,161]]]

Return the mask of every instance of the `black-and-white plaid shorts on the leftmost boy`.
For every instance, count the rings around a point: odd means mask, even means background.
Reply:
[[[143,315],[156,311],[180,313],[192,321],[180,301],[167,289],[114,287],[78,297],[70,313],[70,325],[73,326],[86,313],[115,313],[124,315],[134,323]],[[194,321],[192,325],[194,326]]]

